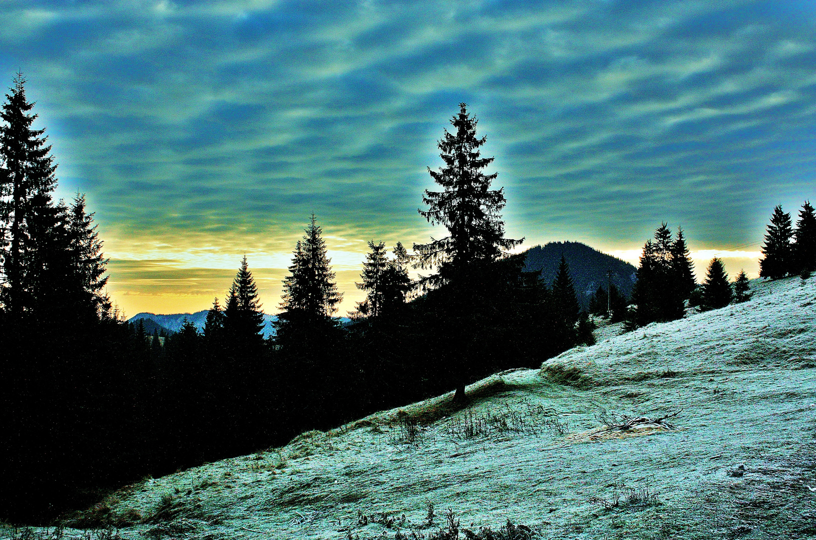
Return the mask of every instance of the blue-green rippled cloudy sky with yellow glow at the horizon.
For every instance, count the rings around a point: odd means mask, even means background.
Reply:
[[[367,241],[445,236],[417,210],[460,102],[523,246],[636,263],[667,222],[698,280],[715,255],[756,276],[774,206],[816,200],[814,23],[787,0],[4,0],[0,85],[27,78],[126,315],[209,308],[243,255],[277,312],[312,213],[344,315]]]

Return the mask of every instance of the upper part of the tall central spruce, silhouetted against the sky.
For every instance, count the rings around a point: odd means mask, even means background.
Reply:
[[[432,225],[444,225],[449,236],[415,244],[414,250],[418,268],[439,264],[437,284],[464,278],[473,272],[474,263],[490,263],[521,243],[504,237],[504,188],[491,190],[498,173],[485,175],[482,171],[494,158],[481,157],[479,148],[486,136],[477,138],[477,123],[468,114],[467,104],[459,104],[459,114],[450,120],[455,133],[445,130],[437,143],[445,166],[439,170],[428,167],[428,174],[443,189],[425,190],[422,200],[428,210],[418,210],[419,215]]]

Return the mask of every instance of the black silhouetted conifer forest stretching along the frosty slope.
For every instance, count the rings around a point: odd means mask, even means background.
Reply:
[[[367,242],[341,321],[342,293],[320,215],[291,246],[275,334],[264,338],[246,257],[202,331],[160,336],[113,305],[104,238],[85,197],[55,200],[60,170],[17,73],[0,126],[0,518],[47,523],[108,489],[282,445],[374,411],[455,392],[502,370],[537,368],[592,345],[598,317],[629,329],[751,297],[745,272],[714,258],[695,276],[683,228],[656,224],[632,294],[601,283],[588,307],[562,255],[552,280],[505,235],[507,195],[467,104],[439,134],[435,188],[416,193],[437,234]],[[638,242],[642,239],[636,239]],[[760,276],[816,272],[816,210],[774,209]],[[412,278],[411,272],[419,277]],[[610,281],[611,283],[611,281]],[[70,313],[70,316],[65,316]]]

